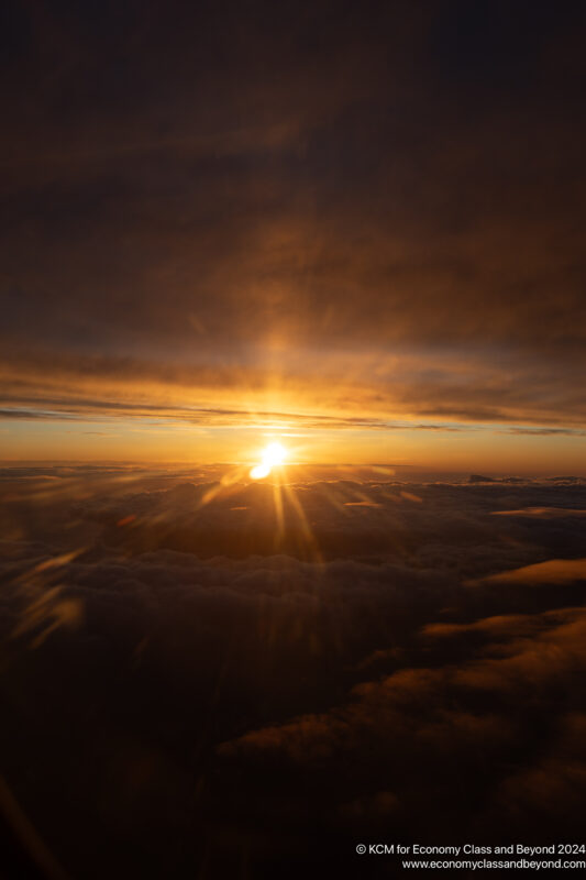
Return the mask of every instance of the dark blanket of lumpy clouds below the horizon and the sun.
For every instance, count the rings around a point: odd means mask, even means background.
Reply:
[[[275,543],[215,469],[0,474],[5,780],[73,876],[579,832],[584,520],[493,513],[583,481],[297,475]]]

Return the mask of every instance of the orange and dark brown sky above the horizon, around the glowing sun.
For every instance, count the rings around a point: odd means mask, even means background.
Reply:
[[[581,4],[2,15],[2,459],[584,473]]]

